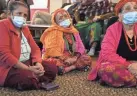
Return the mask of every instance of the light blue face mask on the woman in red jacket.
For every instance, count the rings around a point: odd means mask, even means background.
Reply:
[[[26,19],[21,16],[13,16],[12,22],[16,27],[21,28],[26,23]]]

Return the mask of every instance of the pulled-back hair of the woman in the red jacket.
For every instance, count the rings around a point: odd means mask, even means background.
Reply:
[[[14,10],[16,10],[19,6],[23,6],[25,8],[28,9],[28,6],[26,4],[24,4],[23,2],[20,1],[12,1],[8,4],[8,10],[10,12],[13,12]]]

